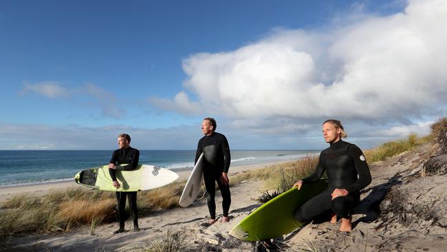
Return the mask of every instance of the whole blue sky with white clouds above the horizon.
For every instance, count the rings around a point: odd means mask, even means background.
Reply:
[[[447,1],[0,1],[0,149],[370,148],[447,112]]]

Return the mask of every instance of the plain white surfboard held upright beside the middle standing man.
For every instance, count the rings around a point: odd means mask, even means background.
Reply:
[[[190,204],[193,204],[199,195],[201,184],[204,181],[203,160],[204,154],[202,153],[193,171],[191,171],[188,182],[186,182],[185,188],[183,189],[182,197],[180,197],[179,205],[182,207],[188,207]]]

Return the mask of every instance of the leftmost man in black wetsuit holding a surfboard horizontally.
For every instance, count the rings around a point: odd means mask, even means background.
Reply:
[[[120,182],[116,180],[115,171],[118,168],[117,165],[128,164],[122,167],[124,171],[129,171],[137,168],[138,158],[140,158],[140,151],[133,149],[130,146],[131,136],[128,134],[118,135],[118,147],[116,151],[113,151],[112,158],[109,162],[109,174],[113,181],[113,187],[119,189],[121,187]],[[132,211],[133,229],[138,231],[138,209],[137,209],[137,192],[136,191],[116,191],[116,199],[118,200],[118,220],[120,222],[120,228],[114,233],[124,232],[124,216],[126,208],[126,198],[129,198],[129,207]]]

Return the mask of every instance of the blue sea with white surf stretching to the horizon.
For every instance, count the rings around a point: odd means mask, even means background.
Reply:
[[[0,187],[72,180],[83,169],[107,165],[113,151],[0,151]],[[231,167],[296,160],[319,151],[232,150]],[[194,150],[142,150],[140,164],[192,169]]]

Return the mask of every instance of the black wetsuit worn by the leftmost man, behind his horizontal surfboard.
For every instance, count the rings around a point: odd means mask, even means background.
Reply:
[[[124,171],[133,170],[138,166],[140,151],[129,147],[127,149],[117,149],[113,151],[111,163],[115,165],[129,164],[124,166]],[[115,170],[109,169],[109,174],[113,181],[116,180]],[[124,229],[124,216],[126,208],[126,198],[129,198],[129,207],[132,211],[133,227],[138,227],[138,209],[137,209],[137,192],[136,191],[117,191],[116,199],[118,200],[118,220],[120,229]]]

